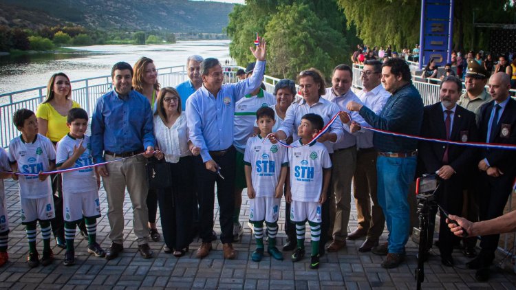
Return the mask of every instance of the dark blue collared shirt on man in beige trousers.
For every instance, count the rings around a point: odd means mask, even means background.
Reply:
[[[92,118],[92,152],[96,162],[103,151],[125,153],[154,146],[154,126],[149,100],[131,89],[124,100],[116,91],[98,98]]]

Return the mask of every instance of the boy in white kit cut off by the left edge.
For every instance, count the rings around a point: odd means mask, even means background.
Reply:
[[[6,192],[3,190],[3,179],[11,178],[9,157],[6,150],[0,147],[0,267],[7,263],[7,243],[9,241],[9,219],[7,215]]]

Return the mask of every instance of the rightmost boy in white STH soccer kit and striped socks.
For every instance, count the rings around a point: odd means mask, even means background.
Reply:
[[[320,115],[303,115],[297,129],[301,139],[292,143],[297,147],[290,148],[288,159],[290,183],[287,184],[285,199],[291,203],[290,221],[295,223],[297,234],[297,249],[291,258],[297,262],[305,256],[305,223],[308,221],[312,235],[310,269],[319,268],[321,205],[326,200],[332,161],[322,143],[308,143],[323,126],[324,121]]]

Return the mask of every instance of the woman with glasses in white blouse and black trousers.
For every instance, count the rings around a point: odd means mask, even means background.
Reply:
[[[172,187],[158,190],[164,252],[184,256],[192,241],[193,157],[200,149],[193,146],[181,111],[181,98],[171,87],[161,89],[154,113],[155,157],[170,166]]]

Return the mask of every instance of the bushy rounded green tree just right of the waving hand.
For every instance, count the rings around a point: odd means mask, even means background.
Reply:
[[[316,67],[330,76],[347,51],[343,35],[320,19],[308,5],[281,5],[266,26],[269,74],[294,79],[299,71]]]

